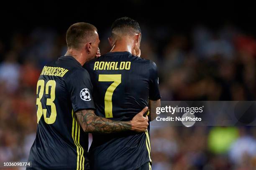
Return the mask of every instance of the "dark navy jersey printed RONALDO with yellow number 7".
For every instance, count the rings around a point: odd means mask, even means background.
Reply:
[[[84,65],[94,87],[96,114],[129,121],[161,98],[154,62],[130,52],[109,52]],[[93,134],[89,151],[94,170],[134,170],[151,163],[149,128],[146,133]]]

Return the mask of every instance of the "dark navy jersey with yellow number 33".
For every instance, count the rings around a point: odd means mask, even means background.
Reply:
[[[85,170],[88,134],[75,112],[95,109],[90,75],[72,56],[45,65],[37,82],[37,132],[28,161],[34,169]]]

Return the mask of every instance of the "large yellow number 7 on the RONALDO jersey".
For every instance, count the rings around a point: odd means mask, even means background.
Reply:
[[[99,75],[99,81],[100,82],[113,82],[107,89],[105,93],[105,116],[107,118],[113,117],[112,113],[112,95],[114,93],[114,90],[118,85],[121,83],[121,75]]]

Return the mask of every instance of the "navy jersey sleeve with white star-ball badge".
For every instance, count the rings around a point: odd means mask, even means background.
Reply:
[[[95,109],[92,99],[92,82],[85,69],[72,72],[67,82],[70,99],[74,112],[84,109]]]

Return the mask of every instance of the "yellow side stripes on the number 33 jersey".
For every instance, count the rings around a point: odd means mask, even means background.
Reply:
[[[72,119],[73,119],[72,138],[74,140],[74,144],[77,146],[77,170],[84,170],[84,150],[79,143],[79,141],[80,141],[80,126],[78,125],[77,120],[74,118],[73,110],[72,110]]]

